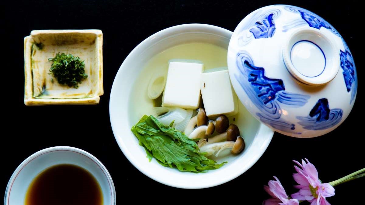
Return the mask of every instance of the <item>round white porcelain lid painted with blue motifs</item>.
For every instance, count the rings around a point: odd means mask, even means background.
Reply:
[[[326,134],[354,105],[350,50],[328,22],[306,9],[273,5],[250,13],[232,35],[227,61],[241,102],[282,134]]]

